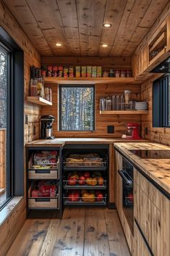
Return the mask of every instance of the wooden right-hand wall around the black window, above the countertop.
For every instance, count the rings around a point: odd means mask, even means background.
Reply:
[[[142,136],[144,139],[170,146],[170,129],[153,128],[153,81],[160,76],[153,75],[141,85],[141,99],[148,102],[148,115],[142,116]],[[145,134],[145,128],[148,128],[148,135]]]

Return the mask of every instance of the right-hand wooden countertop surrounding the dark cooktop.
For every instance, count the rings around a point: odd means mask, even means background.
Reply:
[[[169,146],[149,142],[116,143],[114,146],[164,191],[168,192],[170,197],[170,159],[142,159],[129,152],[132,149],[170,150]]]

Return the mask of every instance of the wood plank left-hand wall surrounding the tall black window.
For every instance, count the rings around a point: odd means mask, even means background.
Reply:
[[[0,0],[0,25],[4,28],[16,41],[16,43],[24,51],[24,78],[25,78],[25,96],[28,94],[29,90],[29,78],[30,78],[30,65],[40,66],[41,57],[38,54],[37,49],[27,38],[26,34],[17,23],[17,20],[13,17],[12,13],[5,4]],[[40,107],[36,107],[33,104],[27,104],[25,102],[25,114],[29,115],[29,125],[25,125],[25,143],[32,139],[38,138],[39,136],[39,117],[40,117]],[[33,123],[36,126],[36,133],[33,136]],[[0,226],[0,234],[4,234],[0,239],[0,255],[4,256],[7,254],[7,250],[11,246],[15,237],[17,236],[23,223],[25,223],[26,213],[25,213],[25,197],[21,204],[14,209],[9,218],[4,221],[4,224]]]

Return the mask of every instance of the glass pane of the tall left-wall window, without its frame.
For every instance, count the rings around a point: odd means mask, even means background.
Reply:
[[[11,197],[11,96],[9,88],[10,51],[0,46],[0,207]]]

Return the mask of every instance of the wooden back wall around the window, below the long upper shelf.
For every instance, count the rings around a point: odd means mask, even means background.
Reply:
[[[122,132],[126,129],[127,122],[140,123],[140,115],[100,115],[99,99],[101,96],[109,96],[111,94],[122,94],[125,89],[132,91],[133,99],[140,99],[140,85],[124,85],[124,84],[96,84],[95,85],[95,131],[58,131],[58,85],[46,85],[52,88],[53,106],[42,107],[42,115],[54,115],[54,136],[56,137],[107,137],[118,138],[122,136]],[[114,133],[107,133],[107,125],[114,125]]]

